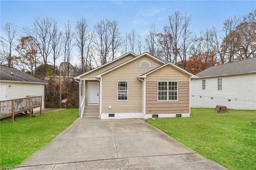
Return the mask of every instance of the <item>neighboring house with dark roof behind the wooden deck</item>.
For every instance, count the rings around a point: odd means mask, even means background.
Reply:
[[[44,108],[44,83],[12,67],[0,66],[0,101],[27,96],[42,96]]]

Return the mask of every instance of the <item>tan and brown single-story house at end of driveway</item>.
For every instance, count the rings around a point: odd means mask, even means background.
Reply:
[[[148,53],[127,53],[75,77],[81,117],[189,117],[190,78]]]

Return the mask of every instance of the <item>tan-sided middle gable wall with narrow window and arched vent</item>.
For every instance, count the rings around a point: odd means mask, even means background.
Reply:
[[[140,68],[143,60],[150,62],[150,68]],[[142,81],[138,76],[162,65],[150,57],[142,56],[116,70],[102,75],[102,114],[142,113]],[[117,81],[128,81],[128,100],[117,100]],[[111,109],[109,109],[111,106]]]

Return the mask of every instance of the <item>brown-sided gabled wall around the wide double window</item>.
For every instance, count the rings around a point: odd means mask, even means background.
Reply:
[[[146,114],[189,113],[189,76],[166,65],[146,78]],[[157,101],[157,81],[178,81],[178,101]]]

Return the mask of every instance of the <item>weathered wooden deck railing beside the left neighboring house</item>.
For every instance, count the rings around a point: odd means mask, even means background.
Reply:
[[[42,96],[3,100],[0,101],[0,119],[12,116],[14,122],[14,115],[22,112],[29,112],[31,118],[33,109],[37,107],[40,107],[40,114],[42,114]]]

